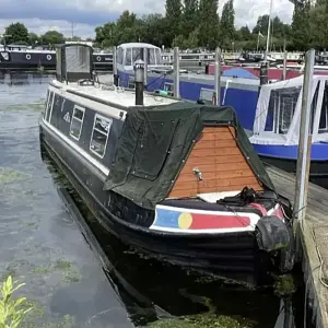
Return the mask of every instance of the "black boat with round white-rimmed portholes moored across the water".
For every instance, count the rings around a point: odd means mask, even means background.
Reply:
[[[3,52],[8,54],[8,60],[2,56]],[[93,63],[96,70],[113,70],[113,55],[93,54]],[[56,69],[56,54],[51,51],[28,52],[28,50],[0,51],[0,70],[37,69],[39,67]]]

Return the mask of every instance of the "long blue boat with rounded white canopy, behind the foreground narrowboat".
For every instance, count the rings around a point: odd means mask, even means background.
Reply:
[[[133,63],[136,60],[143,58],[144,49],[148,51],[147,91],[165,90],[172,92],[174,81],[172,66],[162,63],[159,47],[143,43],[129,43],[117,47],[119,85],[133,87]],[[249,75],[243,77],[241,71],[247,72],[239,69],[238,74],[236,74],[234,70],[233,75],[225,77],[225,74],[229,74],[225,72],[221,78],[221,105],[234,107],[242,127],[251,130],[259,94],[259,80]],[[212,102],[214,77],[180,70],[179,92],[184,99]]]

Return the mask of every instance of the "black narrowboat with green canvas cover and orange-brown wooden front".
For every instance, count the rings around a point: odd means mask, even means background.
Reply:
[[[291,270],[291,204],[233,108],[145,93],[136,81],[136,90],[102,85],[92,49],[63,45],[39,120],[42,152],[104,229],[141,253],[237,282]]]

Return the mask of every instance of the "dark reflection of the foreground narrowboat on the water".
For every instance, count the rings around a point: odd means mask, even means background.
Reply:
[[[83,215],[80,220],[84,220],[93,233],[86,239],[95,236],[108,280],[136,326],[144,326],[156,318],[214,313],[244,325],[241,327],[274,327],[280,300],[272,291],[249,292],[140,256],[105,232],[48,157],[46,163],[56,183],[70,190]]]

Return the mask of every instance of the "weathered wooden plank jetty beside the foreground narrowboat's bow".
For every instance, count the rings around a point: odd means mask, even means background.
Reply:
[[[267,168],[277,191],[294,201],[295,176]],[[309,184],[306,219],[301,230],[303,272],[315,327],[328,327],[328,190]]]

